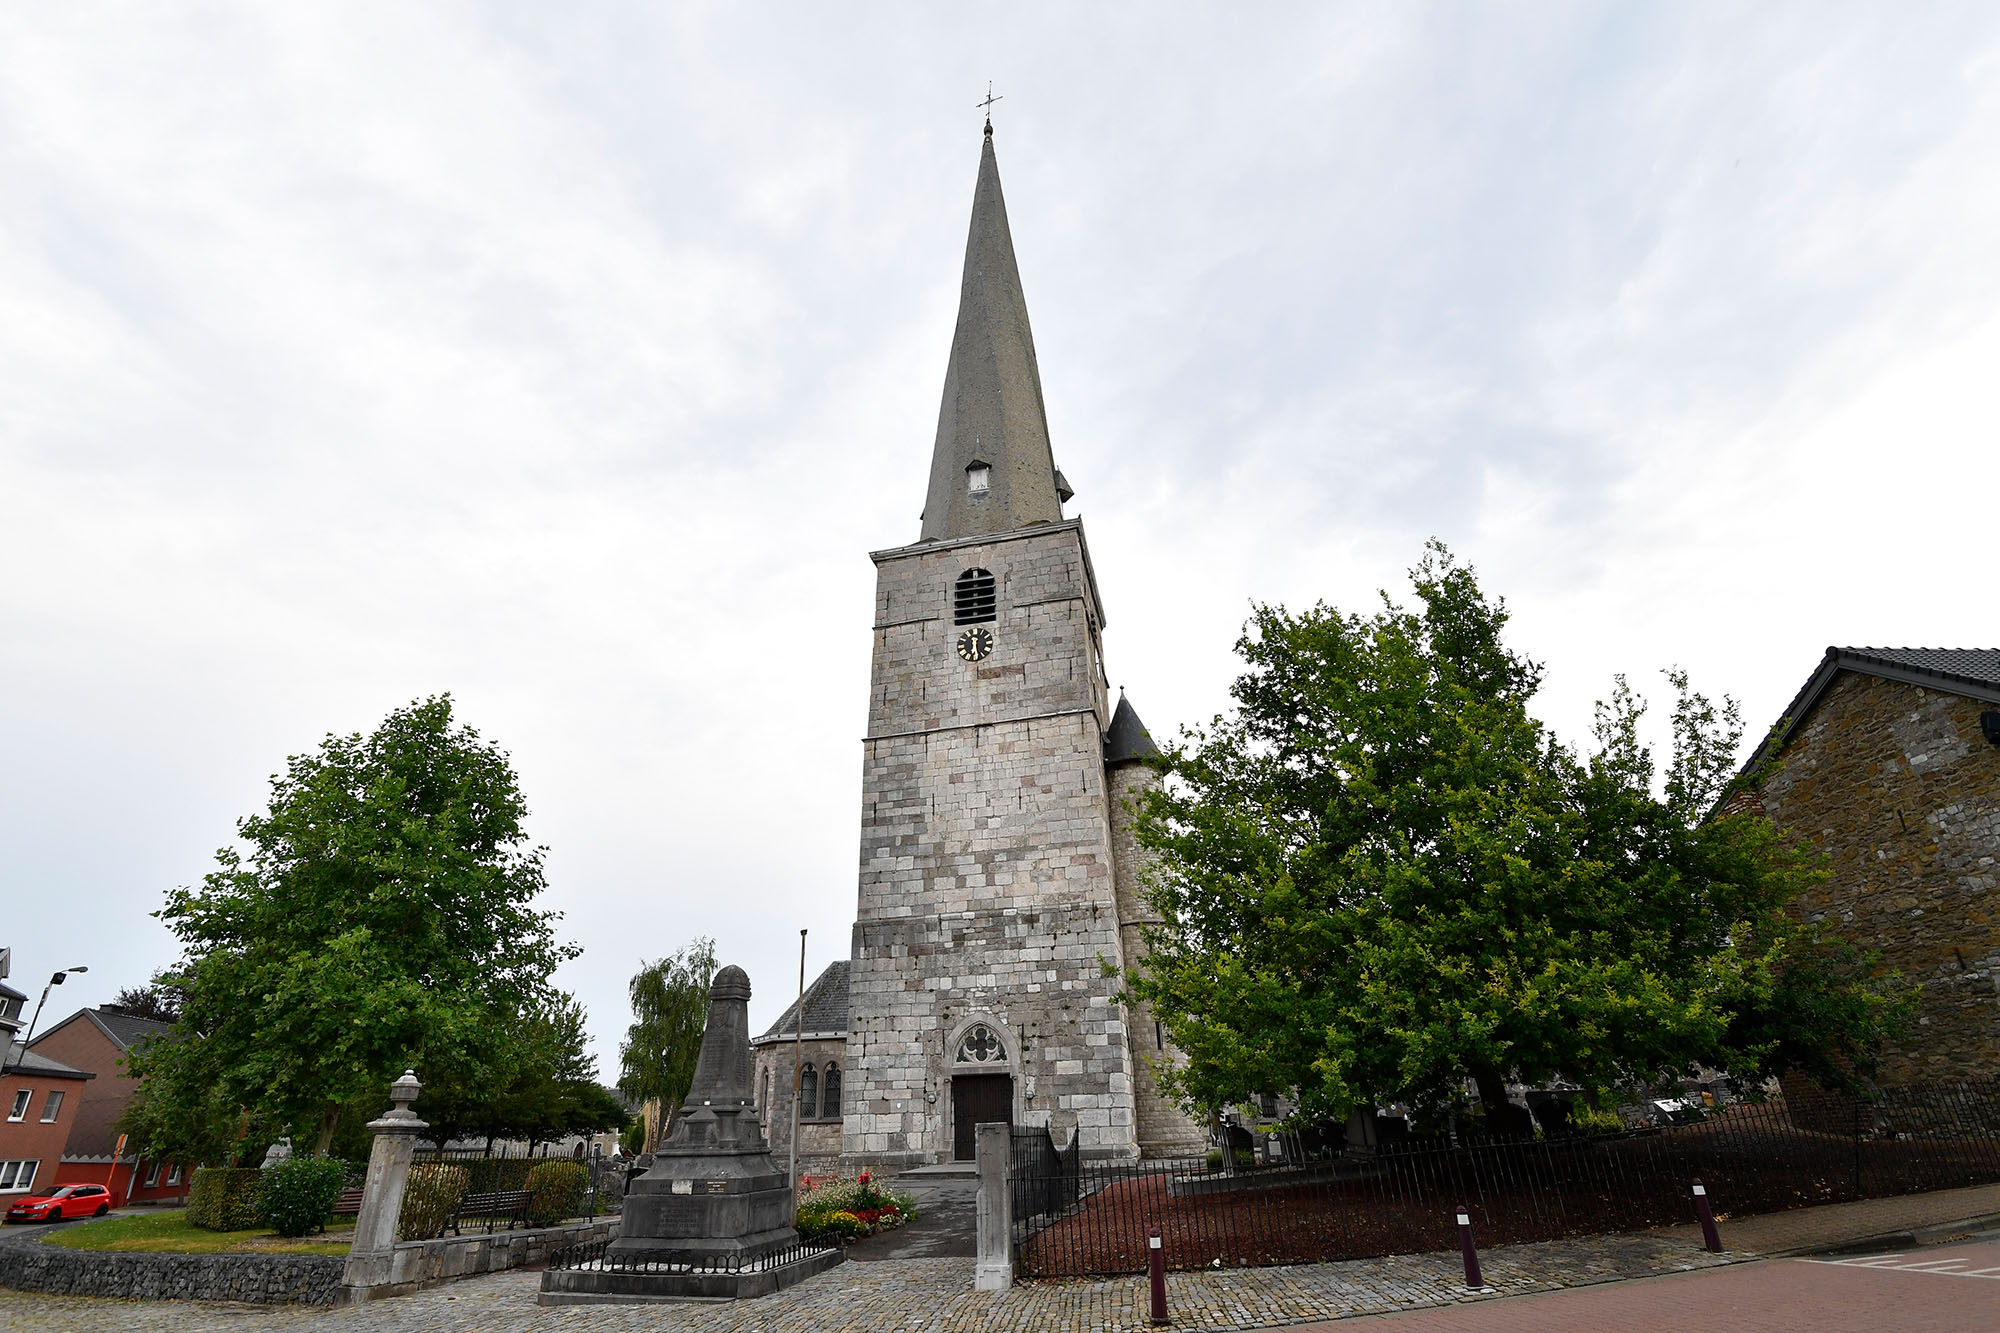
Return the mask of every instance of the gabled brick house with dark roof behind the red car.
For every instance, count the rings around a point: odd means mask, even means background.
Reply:
[[[108,1005],[78,1009],[34,1039],[32,1051],[94,1075],[86,1085],[62,1161],[54,1167],[58,1185],[108,1185],[118,1203],[172,1199],[182,1189],[180,1163],[142,1163],[136,1153],[112,1161],[118,1145],[118,1117],[138,1093],[138,1079],[126,1073],[126,1053],[172,1025],[140,1019]],[[136,1179],[134,1179],[136,1177]]]

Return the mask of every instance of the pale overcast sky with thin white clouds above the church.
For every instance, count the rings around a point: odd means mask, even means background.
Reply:
[[[1996,646],[2000,6],[0,10],[0,945],[176,957],[286,755],[506,747],[604,1075],[696,935],[844,957],[986,80],[1154,731],[1252,600],[1468,558],[1584,739]],[[60,1001],[60,1003],[58,1003]]]

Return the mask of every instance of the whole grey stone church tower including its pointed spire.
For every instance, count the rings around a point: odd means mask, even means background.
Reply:
[[[852,1165],[968,1159],[982,1121],[1136,1157],[1158,1119],[1134,1105],[1142,1071],[1106,975],[1136,943],[1112,797],[1136,755],[1108,765],[1104,602],[1068,498],[988,124],[922,534],[872,554]]]

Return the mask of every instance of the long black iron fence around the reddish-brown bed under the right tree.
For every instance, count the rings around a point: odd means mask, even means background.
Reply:
[[[1482,1245],[1506,1245],[1694,1221],[1696,1179],[1724,1217],[2000,1181],[2000,1085],[1800,1087],[1662,1119],[1680,1123],[1322,1151],[1294,1137],[1236,1169],[1220,1153],[1076,1161],[1016,1135],[1014,1243],[1030,1277],[1144,1271],[1154,1227],[1170,1269],[1312,1263],[1452,1249],[1458,1205]]]

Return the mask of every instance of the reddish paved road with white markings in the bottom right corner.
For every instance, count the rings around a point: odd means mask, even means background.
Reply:
[[[1738,1327],[1772,1333],[2000,1329],[2000,1239],[1848,1259],[1774,1259],[1446,1309],[1306,1325],[1340,1333],[1562,1333]]]

